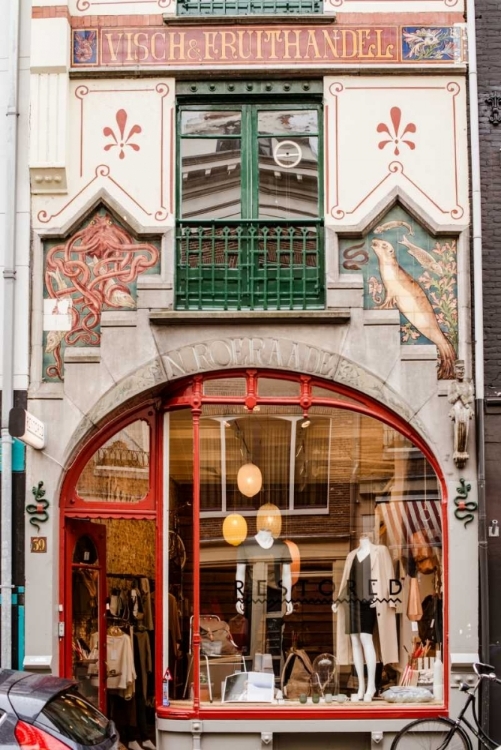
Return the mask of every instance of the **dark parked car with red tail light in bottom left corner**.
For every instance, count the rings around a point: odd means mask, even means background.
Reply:
[[[118,733],[104,714],[52,675],[0,670],[0,750],[117,750]]]

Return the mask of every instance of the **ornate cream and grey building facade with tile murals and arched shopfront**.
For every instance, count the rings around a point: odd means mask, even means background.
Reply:
[[[129,744],[389,747],[478,654],[461,0],[32,16],[25,666]]]

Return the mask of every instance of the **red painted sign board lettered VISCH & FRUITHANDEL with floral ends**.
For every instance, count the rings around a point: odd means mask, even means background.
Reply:
[[[74,67],[457,63],[463,24],[447,27],[151,26],[73,29]]]

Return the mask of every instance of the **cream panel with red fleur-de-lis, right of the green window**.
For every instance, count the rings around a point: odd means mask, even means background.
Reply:
[[[355,225],[400,187],[438,225],[468,223],[462,78],[326,80],[326,220]]]

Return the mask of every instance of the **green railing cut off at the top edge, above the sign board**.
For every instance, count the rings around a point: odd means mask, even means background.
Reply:
[[[320,0],[178,0],[178,16],[247,16],[322,13]]]

